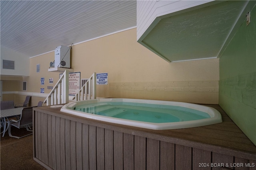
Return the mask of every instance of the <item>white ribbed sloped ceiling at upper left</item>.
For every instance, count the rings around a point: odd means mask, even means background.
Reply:
[[[1,46],[34,57],[136,27],[135,0],[1,0]]]

